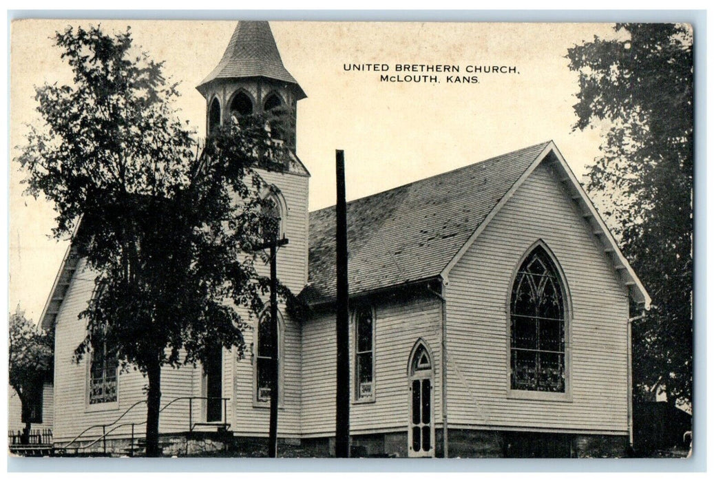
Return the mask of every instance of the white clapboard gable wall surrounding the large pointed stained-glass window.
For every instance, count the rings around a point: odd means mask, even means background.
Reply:
[[[538,239],[570,288],[572,401],[507,398],[510,283]],[[450,426],[626,433],[627,292],[547,167],[535,169],[456,263],[446,298]]]

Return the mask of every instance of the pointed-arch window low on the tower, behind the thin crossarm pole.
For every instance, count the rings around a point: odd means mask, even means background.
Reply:
[[[282,399],[282,356],[283,343],[283,321],[280,312],[278,311],[278,398]],[[265,311],[258,318],[258,326],[253,341],[253,356],[255,358],[255,398],[254,401],[260,404],[270,401],[271,379],[273,375],[272,353],[273,344],[271,338],[271,319],[270,307],[266,307]]]

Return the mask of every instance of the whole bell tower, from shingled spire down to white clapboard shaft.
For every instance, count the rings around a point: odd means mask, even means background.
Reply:
[[[283,66],[267,21],[240,21],[223,58],[196,87],[206,99],[206,131],[228,125],[233,116],[276,113],[271,136],[288,148],[286,169],[256,168],[278,211],[280,236],[289,243],[278,250],[278,278],[293,293],[308,281],[308,196],[310,173],[296,155],[296,106],[306,95]],[[287,121],[285,121],[285,119]],[[262,270],[262,271],[261,271]],[[258,266],[268,275],[268,266]],[[287,323],[287,322],[286,322]],[[289,324],[289,323],[288,323]]]

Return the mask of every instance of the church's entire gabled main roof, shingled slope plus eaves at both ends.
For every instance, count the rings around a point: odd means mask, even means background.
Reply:
[[[548,161],[567,186],[630,296],[649,308],[645,287],[552,141],[348,203],[351,296],[448,278],[541,161]],[[309,230],[309,278],[302,294],[308,303],[328,303],[336,298],[335,206],[310,213]],[[75,246],[70,246],[40,317],[44,328],[54,323],[78,261]]]

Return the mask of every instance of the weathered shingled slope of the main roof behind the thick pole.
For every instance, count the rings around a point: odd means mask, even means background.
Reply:
[[[433,278],[548,142],[347,204],[350,294]],[[332,301],[335,208],[310,214],[310,303]]]

